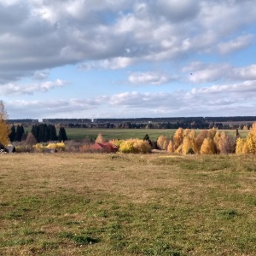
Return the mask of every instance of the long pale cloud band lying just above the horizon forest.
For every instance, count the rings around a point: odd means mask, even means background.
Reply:
[[[174,92],[127,91],[112,96],[55,101],[4,102],[9,116],[42,117],[143,117],[143,116],[221,116],[255,115],[256,80],[240,84],[217,84],[210,87]],[[102,109],[99,115],[98,110]],[[114,111],[113,111],[114,110]],[[229,111],[229,112],[228,112]],[[125,115],[124,115],[125,113]]]

